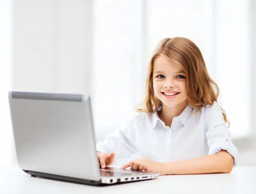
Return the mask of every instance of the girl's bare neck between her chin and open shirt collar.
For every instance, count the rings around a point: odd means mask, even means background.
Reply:
[[[158,117],[165,123],[166,126],[171,127],[173,118],[179,116],[187,105],[187,99],[174,107],[168,107],[163,104],[162,110],[158,112]]]

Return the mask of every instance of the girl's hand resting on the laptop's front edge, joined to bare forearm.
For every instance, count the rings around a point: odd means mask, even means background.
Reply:
[[[155,162],[145,158],[131,160],[131,162],[122,166],[125,169],[130,166],[131,170],[145,171],[145,172],[155,172],[160,173],[160,175],[166,175],[166,163]]]

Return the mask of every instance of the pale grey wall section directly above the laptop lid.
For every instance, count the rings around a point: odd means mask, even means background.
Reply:
[[[13,0],[12,90],[90,94],[92,34],[91,0]]]

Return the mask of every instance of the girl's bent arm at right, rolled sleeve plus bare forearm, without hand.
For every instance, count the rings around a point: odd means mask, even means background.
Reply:
[[[167,174],[229,173],[236,165],[237,148],[232,143],[221,107],[217,102],[206,111],[208,155],[189,160],[167,162]]]

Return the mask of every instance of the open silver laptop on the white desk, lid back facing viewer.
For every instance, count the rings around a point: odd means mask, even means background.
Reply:
[[[160,175],[99,166],[89,95],[9,91],[9,106],[17,163],[31,176],[102,185]]]

